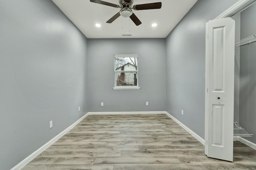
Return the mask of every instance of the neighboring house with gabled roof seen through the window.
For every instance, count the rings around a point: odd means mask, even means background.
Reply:
[[[136,67],[132,63],[126,63],[118,68],[116,71],[129,71],[129,72],[116,72],[116,86],[137,86]]]

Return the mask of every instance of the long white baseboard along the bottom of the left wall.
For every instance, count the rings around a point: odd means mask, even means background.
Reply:
[[[34,151],[32,154],[30,154],[28,157],[26,157],[24,160],[22,160],[20,163],[18,163],[16,166],[14,166],[11,170],[20,170],[23,168],[26,164],[28,164],[31,160],[36,158],[40,153],[42,153],[44,150],[46,150],[48,147],[50,147],[52,144],[54,144],[58,139],[60,139],[62,136],[64,136],[68,131],[70,131],[73,127],[75,127],[80,121],[82,121],[85,117],[87,117],[89,114],[86,113],[83,117],[78,119],[75,123],[67,127],[64,131],[60,132],[58,135],[56,135],[54,138],[52,138],[50,141],[48,141],[46,144],[44,144],[42,147],[40,147],[38,150]]]

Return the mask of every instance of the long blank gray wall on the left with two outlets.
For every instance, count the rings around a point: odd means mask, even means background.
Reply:
[[[0,4],[0,169],[8,170],[88,111],[87,39],[51,0]]]

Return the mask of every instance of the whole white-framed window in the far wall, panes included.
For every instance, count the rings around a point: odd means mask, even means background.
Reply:
[[[114,55],[114,90],[140,89],[138,55]]]

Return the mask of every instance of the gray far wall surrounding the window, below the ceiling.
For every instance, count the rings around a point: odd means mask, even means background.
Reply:
[[[112,89],[114,54],[139,55],[140,90]],[[90,111],[165,111],[165,40],[88,39],[88,82]]]

